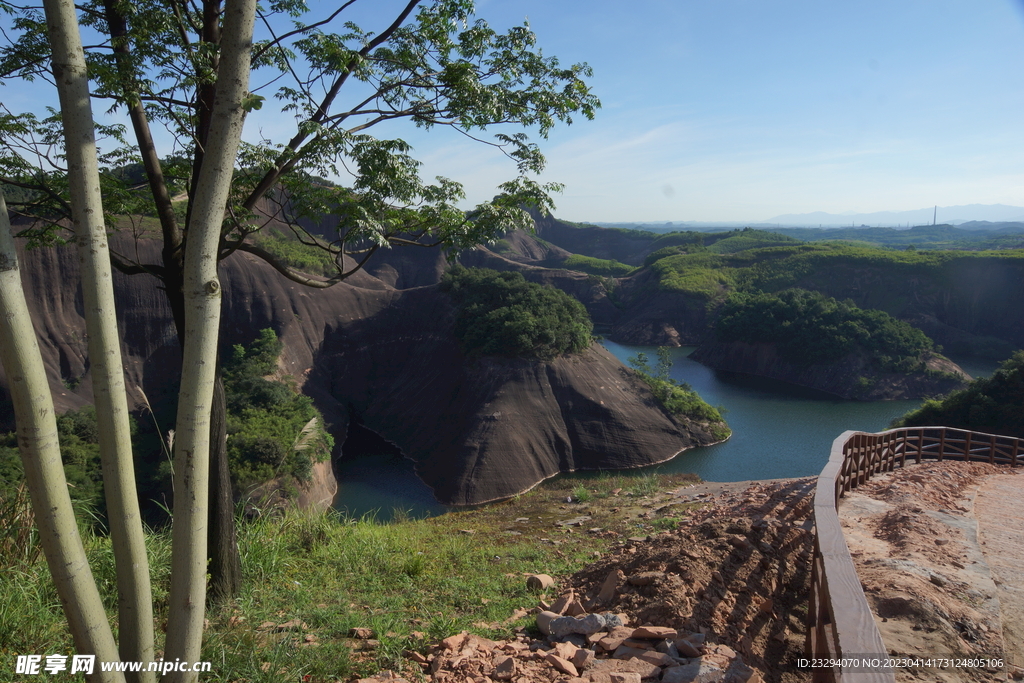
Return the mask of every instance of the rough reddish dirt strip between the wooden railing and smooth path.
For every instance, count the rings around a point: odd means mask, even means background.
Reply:
[[[840,505],[847,545],[890,654],[1005,659],[1001,609],[979,537],[975,496],[992,477],[982,463],[925,463],[877,476]],[[1011,668],[1011,672],[1013,669]],[[907,667],[897,681],[1006,680],[1004,667]]]

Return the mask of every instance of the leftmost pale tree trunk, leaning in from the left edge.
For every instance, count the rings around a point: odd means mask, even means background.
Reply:
[[[100,661],[118,659],[99,591],[85,557],[78,523],[68,495],[57,423],[46,371],[36,342],[22,288],[17,253],[11,238],[7,204],[0,191],[0,364],[7,371],[17,422],[17,445],[32,497],[43,554],[56,584],[60,605],[82,654]],[[94,681],[124,681],[120,673],[100,672]]]

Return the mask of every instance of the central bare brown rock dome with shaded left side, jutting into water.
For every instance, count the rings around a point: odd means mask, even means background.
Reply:
[[[442,503],[508,498],[559,472],[642,467],[715,440],[669,417],[599,346],[548,362],[472,360],[453,316],[445,296],[404,292],[327,340],[310,376],[343,387],[349,410],[414,460]]]

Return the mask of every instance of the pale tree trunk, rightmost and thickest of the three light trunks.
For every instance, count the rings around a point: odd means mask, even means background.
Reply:
[[[206,607],[210,410],[220,326],[217,257],[248,94],[256,0],[230,0],[201,177],[185,240],[185,348],[174,456],[174,526],[165,659],[199,661]],[[172,672],[168,683],[197,673]]]

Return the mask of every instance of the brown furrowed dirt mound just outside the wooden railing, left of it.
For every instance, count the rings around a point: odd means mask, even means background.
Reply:
[[[663,572],[601,609],[638,625],[703,632],[766,681],[808,681],[796,659],[806,634],[813,487],[810,477],[682,487],[673,492],[678,501],[709,505],[675,530],[618,546],[569,584],[593,596],[616,568]]]

